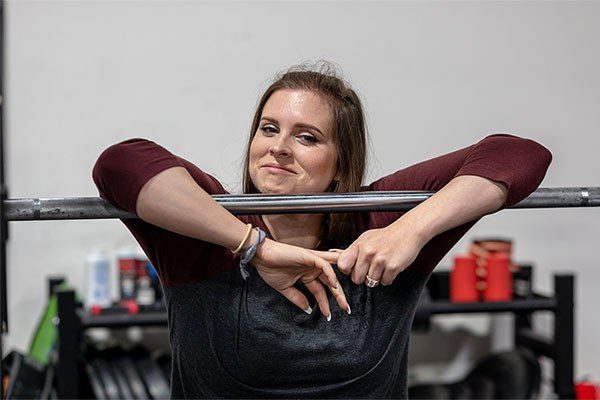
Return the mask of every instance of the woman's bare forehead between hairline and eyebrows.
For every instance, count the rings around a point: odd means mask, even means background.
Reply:
[[[311,124],[327,132],[333,125],[327,100],[320,94],[301,89],[274,92],[265,103],[261,117],[275,118],[280,124]]]

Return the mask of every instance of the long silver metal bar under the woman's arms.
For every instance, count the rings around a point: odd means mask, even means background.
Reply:
[[[233,214],[309,214],[409,210],[435,192],[215,195]],[[8,199],[9,221],[137,218],[98,197]],[[600,187],[540,188],[511,208],[600,207]]]

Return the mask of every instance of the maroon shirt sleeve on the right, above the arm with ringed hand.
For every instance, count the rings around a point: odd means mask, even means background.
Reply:
[[[469,147],[385,176],[365,190],[437,191],[457,176],[476,175],[504,184],[508,189],[504,207],[509,207],[539,186],[551,161],[552,154],[533,140],[506,134],[491,135]],[[400,216],[402,213],[370,213],[367,229],[387,226]],[[458,226],[432,239],[421,250],[411,268],[431,272],[476,222]]]

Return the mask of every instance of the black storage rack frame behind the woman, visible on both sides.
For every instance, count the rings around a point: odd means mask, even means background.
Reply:
[[[514,274],[519,290],[515,299],[506,302],[452,303],[448,301],[448,272],[435,272],[427,283],[428,290],[417,308],[413,327],[427,326],[432,315],[459,313],[512,313],[515,315],[515,345],[528,347],[538,356],[554,361],[554,391],[563,399],[575,398],[574,391],[574,285],[572,274],[554,275],[554,296],[534,293],[532,269],[522,266]],[[58,281],[50,283],[52,287]],[[56,286],[58,288],[58,286]],[[520,293],[519,293],[520,292]],[[57,289],[58,357],[56,368],[59,398],[79,398],[79,365],[82,360],[82,334],[90,328],[127,328],[132,326],[166,326],[164,311],[133,315],[92,316],[83,311],[73,290]],[[554,337],[534,332],[532,317],[536,312],[554,314]]]

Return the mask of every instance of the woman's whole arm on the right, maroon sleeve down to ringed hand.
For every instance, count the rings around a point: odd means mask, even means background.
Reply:
[[[357,284],[368,274],[389,285],[415,260],[427,259],[416,264],[432,268],[429,264],[437,263],[443,254],[422,254],[417,259],[426,244],[430,253],[436,247],[449,249],[473,221],[529,195],[543,179],[550,160],[550,152],[531,140],[494,135],[375,182],[372,190],[385,187],[437,193],[395,218],[393,213],[374,218],[371,227],[375,229],[364,232],[341,253],[340,270],[352,274]],[[460,231],[460,235],[450,234],[450,230]],[[448,234],[438,238],[445,232]],[[452,243],[445,243],[447,240]]]

